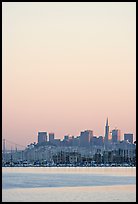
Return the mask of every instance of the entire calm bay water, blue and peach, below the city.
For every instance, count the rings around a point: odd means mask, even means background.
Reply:
[[[2,201],[135,202],[136,168],[3,167]]]

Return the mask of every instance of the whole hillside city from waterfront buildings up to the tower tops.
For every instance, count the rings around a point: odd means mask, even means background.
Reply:
[[[105,135],[96,137],[93,130],[84,130],[79,136],[65,135],[56,139],[54,133],[38,132],[37,143],[31,143],[24,151],[3,154],[3,165],[15,166],[135,166],[136,141],[132,133],[117,128],[110,131],[108,118]]]

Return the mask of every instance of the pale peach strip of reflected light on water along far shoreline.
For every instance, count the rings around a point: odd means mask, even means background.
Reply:
[[[2,172],[20,173],[90,173],[136,176],[136,167],[3,167]]]

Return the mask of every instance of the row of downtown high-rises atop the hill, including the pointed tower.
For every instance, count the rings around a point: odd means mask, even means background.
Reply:
[[[48,139],[49,136],[49,139]],[[115,128],[112,131],[109,130],[108,118],[105,126],[105,136],[96,137],[93,134],[93,130],[84,130],[80,132],[80,136],[65,135],[63,140],[55,139],[54,133],[38,132],[38,145],[45,143],[55,146],[80,146],[80,147],[91,147],[91,146],[105,146],[111,147],[115,143],[121,140],[121,130]],[[133,134],[124,133],[124,141],[133,143]]]

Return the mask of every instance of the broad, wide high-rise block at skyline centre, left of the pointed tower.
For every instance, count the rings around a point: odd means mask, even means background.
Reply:
[[[92,130],[85,130],[80,134],[80,146],[88,147],[93,137]]]

